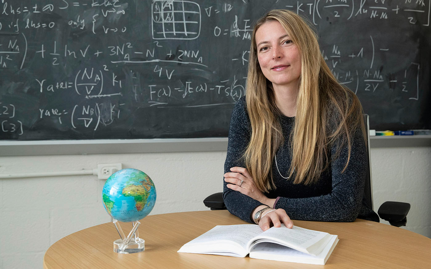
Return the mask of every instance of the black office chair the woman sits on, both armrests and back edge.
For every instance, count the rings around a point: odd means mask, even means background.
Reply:
[[[364,114],[364,123],[367,129],[367,139],[368,139],[368,162],[366,163],[366,169],[369,170],[367,174],[367,180],[365,180],[364,186],[364,196],[362,198],[362,203],[367,207],[373,209],[372,204],[372,179],[371,179],[371,155],[370,155],[370,137],[369,137],[369,115]],[[207,198],[203,200],[203,204],[206,207],[209,207],[211,210],[225,210],[226,206],[223,201],[223,192],[217,192],[212,195],[209,195]],[[378,216],[386,220],[392,226],[406,226],[407,223],[407,213],[409,213],[410,204],[403,202],[393,202],[386,201],[379,207],[377,213]]]

